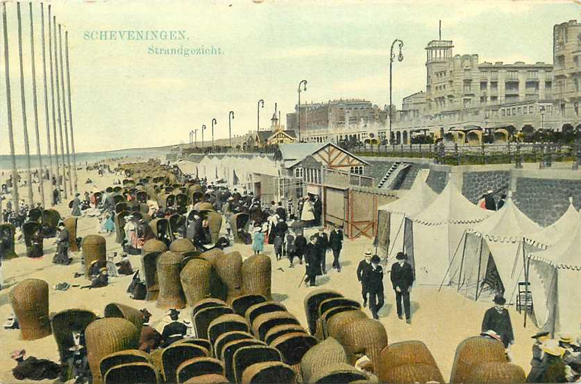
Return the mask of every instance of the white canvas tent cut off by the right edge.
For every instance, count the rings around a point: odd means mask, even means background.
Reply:
[[[537,326],[576,331],[581,326],[581,217],[559,243],[528,254],[528,281]]]

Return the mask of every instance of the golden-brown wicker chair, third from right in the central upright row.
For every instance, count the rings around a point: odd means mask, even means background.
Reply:
[[[188,306],[195,306],[210,297],[210,274],[212,265],[201,259],[190,259],[180,272],[180,281]]]

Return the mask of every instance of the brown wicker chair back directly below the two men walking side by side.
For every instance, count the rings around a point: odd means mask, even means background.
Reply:
[[[387,347],[387,332],[378,320],[360,319],[346,324],[339,330],[337,341],[343,345],[350,364],[355,364],[356,354],[365,354],[373,363],[373,372],[378,372],[381,351]]]

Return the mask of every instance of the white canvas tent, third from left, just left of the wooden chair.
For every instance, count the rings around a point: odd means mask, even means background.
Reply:
[[[517,284],[525,280],[524,238],[540,230],[516,207],[509,192],[498,212],[466,232],[460,263],[456,261],[451,268],[453,283],[476,299],[484,285],[496,292],[504,289],[505,299],[512,302]],[[492,276],[494,267],[499,279]]]

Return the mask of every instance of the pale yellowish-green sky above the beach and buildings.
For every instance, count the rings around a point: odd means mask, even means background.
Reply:
[[[77,152],[165,146],[267,128],[274,103],[285,114],[301,101],[365,98],[389,104],[389,47],[401,39],[403,61],[394,62],[393,103],[426,87],[430,40],[453,40],[454,54],[477,53],[480,62],[553,62],[553,26],[581,21],[573,1],[58,1],[48,15],[69,34],[69,62]],[[40,145],[47,152],[42,82],[40,2],[33,2]],[[6,5],[15,150],[24,153],[17,6]],[[28,3],[21,3],[26,122],[36,151],[31,33]],[[127,40],[129,31],[174,31],[182,40]],[[101,32],[117,31],[116,40]],[[118,31],[123,31],[120,35]],[[134,32],[135,34],[135,32]],[[110,35],[110,34],[109,34]],[[4,52],[4,42],[0,42]],[[155,49],[219,49],[215,55],[159,55]],[[0,155],[8,155],[6,82],[0,55]],[[55,91],[56,92],[56,91]],[[49,80],[49,114],[51,92]],[[62,101],[61,101],[62,102]],[[68,113],[68,104],[67,113]],[[52,119],[49,118],[52,132]],[[58,125],[57,125],[58,126]],[[52,139],[52,138],[51,138]],[[60,144],[59,144],[60,146]]]

